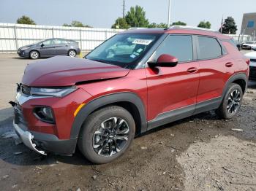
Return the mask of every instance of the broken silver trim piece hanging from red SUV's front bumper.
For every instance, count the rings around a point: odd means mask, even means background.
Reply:
[[[46,152],[37,149],[37,145],[33,143],[34,136],[29,132],[21,129],[15,122],[13,122],[13,127],[15,128],[15,131],[17,135],[20,137],[20,139],[23,141],[23,144],[26,145],[26,147],[29,147],[29,149],[34,150],[35,152],[38,152],[41,155],[46,155]]]

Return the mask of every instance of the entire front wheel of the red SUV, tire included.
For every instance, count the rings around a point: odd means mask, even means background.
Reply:
[[[117,119],[116,123],[114,123],[114,119]],[[105,123],[107,123],[109,127],[111,125],[116,125],[116,129],[117,127],[119,127],[116,132],[123,132],[122,135],[125,135],[125,139],[127,140],[121,140],[120,138],[123,136],[118,136],[120,134],[115,134],[115,137],[113,137],[108,134],[109,132],[102,133],[103,131],[105,132],[108,130],[110,131],[110,133],[113,133],[113,131],[110,130],[111,128],[102,128],[102,123],[104,127]],[[124,134],[124,130],[125,132],[127,132],[127,129],[129,130],[129,132]],[[117,157],[120,157],[124,154],[124,152],[129,148],[130,144],[132,143],[134,136],[135,121],[132,117],[132,114],[130,114],[126,109],[122,108],[121,106],[107,106],[90,114],[86,122],[84,122],[83,127],[80,131],[80,135],[78,137],[78,148],[80,149],[80,152],[82,152],[83,155],[86,157],[86,159],[90,160],[92,163],[110,163]],[[102,145],[98,146],[99,142],[101,142]]]

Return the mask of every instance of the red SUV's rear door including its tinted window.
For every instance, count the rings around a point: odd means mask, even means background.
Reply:
[[[196,113],[219,106],[225,82],[233,74],[232,58],[219,40],[212,36],[196,36],[199,64],[199,86]]]

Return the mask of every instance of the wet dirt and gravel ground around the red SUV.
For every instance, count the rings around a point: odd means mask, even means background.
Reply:
[[[29,62],[0,55],[0,190],[256,190],[256,82],[232,120],[197,114],[137,137],[113,163],[93,165],[78,151],[44,157],[7,138],[7,102]]]

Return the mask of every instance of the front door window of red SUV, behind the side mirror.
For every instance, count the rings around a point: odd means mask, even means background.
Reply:
[[[193,60],[193,44],[190,35],[170,35],[160,44],[151,61],[157,61],[162,54],[173,55],[179,62]]]

